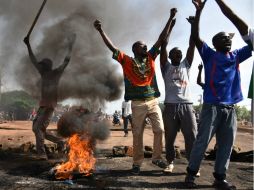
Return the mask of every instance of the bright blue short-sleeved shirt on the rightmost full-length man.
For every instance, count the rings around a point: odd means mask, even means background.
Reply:
[[[251,57],[251,48],[223,54],[210,48],[205,42],[198,49],[204,62],[204,103],[235,104],[243,99],[239,64]]]

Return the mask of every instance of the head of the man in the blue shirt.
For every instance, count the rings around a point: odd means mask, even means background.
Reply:
[[[213,46],[217,51],[227,53],[231,49],[233,36],[233,33],[219,32],[212,39]]]

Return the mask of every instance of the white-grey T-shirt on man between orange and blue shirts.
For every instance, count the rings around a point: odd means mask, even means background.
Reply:
[[[179,66],[168,61],[161,67],[165,82],[165,103],[192,103],[189,89],[190,64],[185,58]]]

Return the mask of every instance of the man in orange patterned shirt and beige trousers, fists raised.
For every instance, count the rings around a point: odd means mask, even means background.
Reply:
[[[112,51],[113,58],[122,66],[125,84],[124,99],[132,100],[133,165],[131,172],[135,175],[140,173],[140,167],[144,160],[143,134],[146,117],[151,120],[154,134],[152,163],[161,168],[166,166],[161,156],[164,127],[157,99],[160,92],[155,75],[155,59],[159,54],[162,41],[167,36],[173,17],[174,14],[171,12],[166,26],[149,51],[143,41],[136,41],[132,45],[134,58],[120,51],[111,42],[99,20],[94,22],[94,27],[100,33],[105,45]]]

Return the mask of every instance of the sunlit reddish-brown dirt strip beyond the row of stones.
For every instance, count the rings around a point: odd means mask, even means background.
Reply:
[[[48,129],[54,131],[56,124],[51,123]],[[98,148],[112,149],[116,145],[131,146],[132,133],[129,132],[127,138],[124,138],[123,135],[122,126],[112,126],[110,138],[106,141],[98,142]],[[35,141],[31,121],[15,121],[0,124],[0,144],[2,144],[2,148],[17,147],[28,141],[32,143]],[[152,142],[153,133],[148,126],[144,133],[144,145],[152,146]],[[48,141],[46,143],[51,142]],[[208,149],[213,149],[214,144],[215,138],[212,139]],[[178,133],[175,145],[179,146],[180,149],[184,149],[182,133]],[[242,152],[253,150],[253,128],[245,126],[238,127],[235,145],[240,147]]]

